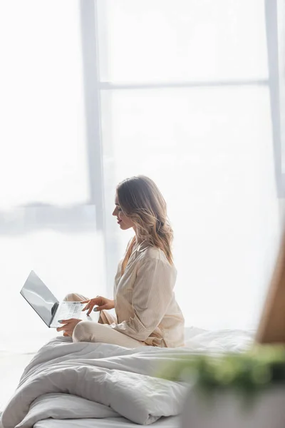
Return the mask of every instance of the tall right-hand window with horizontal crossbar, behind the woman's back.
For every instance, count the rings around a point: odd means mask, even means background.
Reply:
[[[168,201],[187,325],[255,327],[279,237],[274,2],[96,5],[105,212],[120,180],[150,175]],[[127,238],[106,222],[113,274]]]

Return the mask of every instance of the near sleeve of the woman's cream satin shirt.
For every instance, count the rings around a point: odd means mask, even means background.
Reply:
[[[160,259],[148,259],[139,267],[133,286],[134,317],[113,324],[115,330],[137,340],[146,340],[167,311],[173,296],[176,270]]]

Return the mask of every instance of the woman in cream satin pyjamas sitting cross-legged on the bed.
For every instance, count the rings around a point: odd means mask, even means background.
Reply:
[[[115,276],[114,300],[68,295],[83,300],[87,315],[100,311],[97,322],[61,320],[64,335],[73,342],[105,342],[124,347],[184,345],[184,318],[175,301],[176,269],[172,261],[172,228],[166,203],[157,185],[145,176],[118,185],[113,215],[122,230],[133,228],[125,257]],[[117,317],[108,310],[115,308]]]

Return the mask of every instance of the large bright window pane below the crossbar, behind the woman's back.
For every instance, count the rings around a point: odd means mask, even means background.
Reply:
[[[153,178],[175,230],[187,325],[254,327],[279,238],[268,88],[103,91],[102,98],[108,212],[120,180]],[[129,236],[114,219],[110,227],[122,240],[118,260]]]

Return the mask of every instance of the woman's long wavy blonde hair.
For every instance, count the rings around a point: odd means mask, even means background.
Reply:
[[[157,185],[145,175],[127,178],[118,184],[117,197],[120,208],[135,224],[136,238],[160,248],[172,265],[173,230],[167,218],[167,208]],[[122,264],[122,274],[135,245],[130,242]]]

